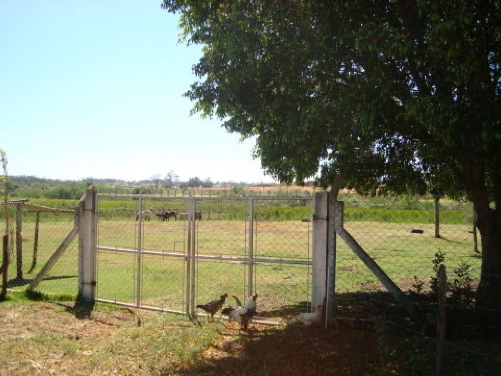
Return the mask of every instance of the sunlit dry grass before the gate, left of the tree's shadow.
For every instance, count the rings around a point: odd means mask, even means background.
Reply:
[[[3,302],[0,375],[153,375],[188,367],[221,329],[167,314],[74,302]]]

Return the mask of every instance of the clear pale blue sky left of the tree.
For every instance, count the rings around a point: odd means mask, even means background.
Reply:
[[[129,181],[175,171],[271,182],[254,140],[190,116],[200,46],[159,0],[0,1],[0,149],[10,175]]]

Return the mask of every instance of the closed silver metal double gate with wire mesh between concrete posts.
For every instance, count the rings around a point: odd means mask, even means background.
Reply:
[[[98,194],[96,300],[197,315],[257,292],[263,320],[309,310],[312,213],[312,197]]]

